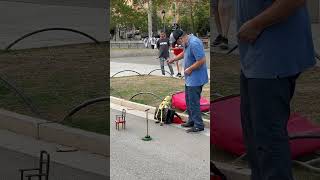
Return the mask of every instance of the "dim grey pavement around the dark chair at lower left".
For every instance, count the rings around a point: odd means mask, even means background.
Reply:
[[[51,155],[52,180],[105,180],[108,177],[107,157],[85,151],[56,152],[57,147],[61,146],[0,130],[0,179],[19,179],[18,169],[36,167],[41,150]]]

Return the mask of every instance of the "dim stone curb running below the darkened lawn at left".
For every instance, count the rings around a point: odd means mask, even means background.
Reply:
[[[94,154],[110,155],[109,136],[67,127],[3,109],[0,109],[0,128]]]

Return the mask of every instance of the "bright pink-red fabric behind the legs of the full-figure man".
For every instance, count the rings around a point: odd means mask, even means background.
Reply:
[[[185,111],[187,109],[186,105],[186,98],[185,98],[185,92],[179,92],[174,95],[172,95],[172,107],[180,109],[182,111]],[[204,97],[201,97],[200,99],[200,110],[201,112],[207,112],[210,109],[210,102],[205,99]]]

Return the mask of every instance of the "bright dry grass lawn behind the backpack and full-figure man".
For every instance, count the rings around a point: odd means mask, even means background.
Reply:
[[[132,99],[134,102],[157,107],[165,96],[177,91],[184,91],[184,80],[162,76],[126,76],[113,77],[110,80],[110,95],[129,100],[139,92],[152,92],[159,96],[157,99],[151,95],[140,95]],[[210,98],[210,86],[205,85],[202,96]]]

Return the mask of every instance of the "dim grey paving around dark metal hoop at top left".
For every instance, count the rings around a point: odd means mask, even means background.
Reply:
[[[0,0],[0,49],[26,33],[52,27],[72,28],[90,34],[100,41],[108,35],[107,10],[104,1],[93,0]],[[71,32],[52,31],[31,36],[14,48],[33,48],[91,42]]]

